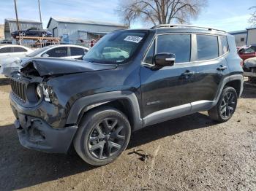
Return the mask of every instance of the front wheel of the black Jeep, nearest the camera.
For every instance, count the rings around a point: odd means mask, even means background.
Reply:
[[[127,148],[131,127],[127,117],[112,107],[86,114],[73,141],[75,151],[90,165],[106,165]]]

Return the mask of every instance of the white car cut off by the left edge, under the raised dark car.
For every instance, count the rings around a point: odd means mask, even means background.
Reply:
[[[20,46],[20,45],[1,45],[0,46],[0,66],[7,58],[22,58],[29,53],[33,52],[28,47]]]

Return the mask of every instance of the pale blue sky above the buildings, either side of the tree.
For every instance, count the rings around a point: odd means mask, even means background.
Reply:
[[[17,0],[20,19],[39,20],[37,0]],[[121,23],[116,14],[118,0],[41,0],[42,21],[47,25],[50,16],[75,17],[84,20],[99,20]],[[197,20],[191,24],[211,26],[225,31],[243,30],[249,27],[249,7],[256,6],[255,0],[209,0]],[[1,0],[0,23],[4,18],[15,18],[13,0]],[[132,28],[143,27],[134,23]]]

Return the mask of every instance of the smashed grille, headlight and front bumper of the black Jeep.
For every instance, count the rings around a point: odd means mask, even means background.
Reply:
[[[20,144],[44,152],[65,153],[76,125],[66,125],[67,112],[48,85],[53,76],[41,76],[33,61],[10,77],[10,104]]]

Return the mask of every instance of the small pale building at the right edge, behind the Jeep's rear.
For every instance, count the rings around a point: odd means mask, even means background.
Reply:
[[[243,31],[232,31],[229,32],[235,36],[236,46],[249,46],[250,44],[256,44],[256,28],[246,28]]]

